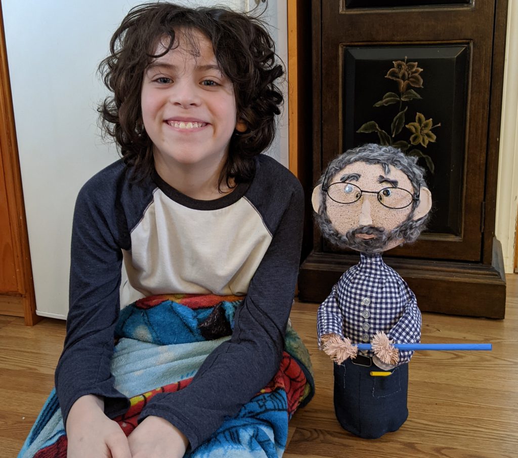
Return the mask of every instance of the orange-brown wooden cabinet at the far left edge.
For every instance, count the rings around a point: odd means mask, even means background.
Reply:
[[[27,325],[33,325],[39,321],[34,299],[1,10],[0,314],[24,316]]]

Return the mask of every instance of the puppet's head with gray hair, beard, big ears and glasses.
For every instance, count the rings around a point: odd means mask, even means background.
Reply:
[[[416,160],[371,143],[331,161],[311,197],[322,235],[366,254],[415,241],[431,208]]]

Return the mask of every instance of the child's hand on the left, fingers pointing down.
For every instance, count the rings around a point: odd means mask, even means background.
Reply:
[[[81,396],[66,422],[67,458],[132,458],[121,427],[106,417],[104,401],[94,395]]]

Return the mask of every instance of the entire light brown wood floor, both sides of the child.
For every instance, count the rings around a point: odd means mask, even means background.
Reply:
[[[336,421],[333,366],[316,349],[316,305],[296,303],[291,318],[311,354],[316,393],[294,415],[284,457],[518,457],[518,275],[507,281],[503,321],[423,314],[423,342],[492,342],[493,351],[416,352],[409,419],[376,440],[359,439]],[[46,318],[31,328],[0,316],[0,457],[20,450],[53,386],[64,335],[61,321]]]

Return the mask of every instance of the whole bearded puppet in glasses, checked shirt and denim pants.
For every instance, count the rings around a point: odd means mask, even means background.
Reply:
[[[408,417],[412,352],[393,343],[420,341],[421,313],[381,254],[421,233],[431,207],[423,173],[399,149],[368,144],[330,162],[311,198],[323,237],[361,256],[319,307],[318,337],[335,362],[337,419],[364,438],[396,431]],[[373,351],[360,352],[356,343],[371,343]],[[381,370],[385,377],[371,375]]]

